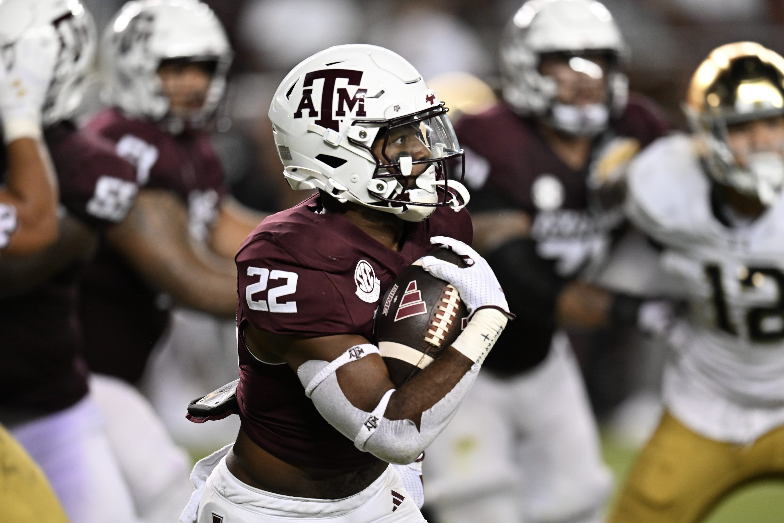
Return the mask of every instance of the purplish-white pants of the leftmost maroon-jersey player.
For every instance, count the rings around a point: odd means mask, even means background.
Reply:
[[[90,395],[10,431],[41,466],[71,521],[140,523]]]

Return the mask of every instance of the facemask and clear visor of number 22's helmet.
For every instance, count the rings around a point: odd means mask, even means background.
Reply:
[[[352,137],[362,136],[360,130],[349,133],[350,143],[368,151],[376,162],[368,193],[379,200],[379,208],[392,207],[401,220],[417,222],[430,217],[436,207],[448,205],[458,210],[466,205],[468,194],[462,176],[461,183],[456,183],[455,176],[449,183],[452,165],[458,158],[463,162],[463,151],[447,111],[441,103],[383,122],[353,122],[352,127],[365,129],[366,140]],[[375,139],[368,140],[372,133]]]

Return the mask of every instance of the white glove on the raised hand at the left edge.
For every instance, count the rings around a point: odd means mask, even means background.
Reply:
[[[5,63],[0,64],[0,111],[5,143],[40,138],[42,107],[59,47],[54,27],[46,27],[23,36],[4,55]]]

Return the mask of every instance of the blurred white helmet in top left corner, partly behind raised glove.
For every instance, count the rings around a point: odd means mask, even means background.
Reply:
[[[79,0],[3,0],[0,48],[5,64],[14,60],[13,45],[20,38],[45,38],[60,49],[42,107],[43,125],[73,117],[96,53],[93,16]]]

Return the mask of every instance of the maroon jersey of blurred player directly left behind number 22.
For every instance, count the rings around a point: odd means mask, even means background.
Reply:
[[[191,235],[208,237],[223,194],[223,169],[207,133],[186,130],[175,136],[115,109],[98,114],[87,128],[111,140],[117,154],[136,166],[140,189],[163,189],[182,198]],[[90,369],[139,380],[169,325],[169,302],[123,256],[102,245],[82,277],[79,303]],[[106,340],[113,340],[111,347]]]

